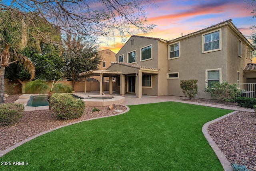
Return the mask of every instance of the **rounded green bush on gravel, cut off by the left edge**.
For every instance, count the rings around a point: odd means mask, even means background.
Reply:
[[[24,105],[15,103],[0,104],[0,126],[17,123],[24,114]]]

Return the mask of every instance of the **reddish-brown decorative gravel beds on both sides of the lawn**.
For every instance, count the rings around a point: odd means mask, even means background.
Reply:
[[[20,95],[11,95],[6,98],[5,102],[13,103]],[[220,104],[218,101],[208,99],[192,99],[191,101],[236,106],[233,103]],[[108,106],[96,107],[100,109],[99,112],[92,112],[92,108],[86,106],[84,115],[68,121],[56,119],[48,110],[26,111],[16,125],[0,127],[0,151],[54,127],[118,113],[108,109]],[[125,111],[126,107],[118,105],[116,109]],[[256,117],[254,113],[239,111],[210,125],[208,132],[230,163],[239,163],[246,165],[248,169],[256,170]]]

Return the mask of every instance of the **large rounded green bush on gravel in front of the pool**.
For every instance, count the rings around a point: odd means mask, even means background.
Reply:
[[[72,95],[53,93],[49,100],[49,109],[58,119],[75,119],[84,113],[84,101]]]

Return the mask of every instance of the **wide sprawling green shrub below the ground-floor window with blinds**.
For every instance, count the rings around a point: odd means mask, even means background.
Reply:
[[[236,84],[228,84],[228,82],[212,82],[210,87],[205,90],[212,97],[219,101],[234,102],[236,97],[240,97],[241,91],[237,89]]]

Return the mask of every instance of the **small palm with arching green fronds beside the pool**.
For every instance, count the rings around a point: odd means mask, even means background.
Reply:
[[[55,82],[54,79],[50,85],[46,80],[43,80],[42,78],[36,78],[35,80],[26,83],[25,90],[31,93],[48,93],[47,100],[49,101],[53,93],[70,93],[72,91],[72,87],[70,85],[60,83],[59,81],[60,79]]]

